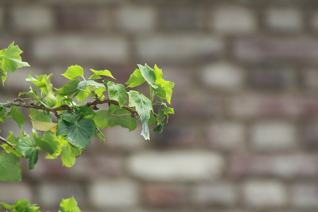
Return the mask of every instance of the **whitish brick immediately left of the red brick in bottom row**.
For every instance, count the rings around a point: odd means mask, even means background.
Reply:
[[[139,193],[138,185],[127,180],[96,180],[88,190],[90,201],[97,208],[135,207]]]

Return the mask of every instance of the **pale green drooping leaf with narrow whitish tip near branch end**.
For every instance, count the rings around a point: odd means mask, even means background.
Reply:
[[[141,133],[145,140],[150,139],[148,120],[150,119],[151,111],[153,110],[153,104],[149,98],[144,94],[140,94],[138,91],[131,90],[128,92],[129,95],[129,106],[135,107],[139,114],[143,126]]]

